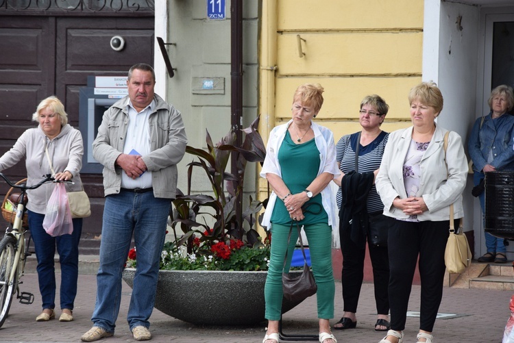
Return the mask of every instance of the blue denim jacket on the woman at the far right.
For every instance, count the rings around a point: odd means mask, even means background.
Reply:
[[[493,161],[489,164],[496,170],[514,170],[514,116],[503,114],[494,123],[491,114],[492,112],[485,116],[481,128],[482,118],[475,120],[467,142],[473,170],[482,172],[487,164],[489,151],[493,153]]]

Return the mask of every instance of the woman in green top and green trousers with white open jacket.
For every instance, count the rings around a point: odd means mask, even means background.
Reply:
[[[328,184],[339,175],[334,136],[326,127],[313,123],[323,105],[323,87],[299,86],[293,96],[292,119],[275,127],[267,144],[262,165],[273,192],[262,225],[271,228],[271,257],[265,285],[267,333],[263,343],[278,343],[278,321],[282,310],[282,270],[289,270],[297,232],[288,242],[291,221],[304,226],[313,273],[318,287],[319,342],[336,343],[328,320],[334,317],[334,276],[332,275],[332,226],[335,213]],[[306,209],[308,207],[308,209]]]

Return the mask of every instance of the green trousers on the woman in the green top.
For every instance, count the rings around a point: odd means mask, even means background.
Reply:
[[[335,283],[332,273],[332,229],[328,224],[310,224],[304,226],[307,236],[310,262],[318,286],[317,310],[318,318],[334,318]],[[289,225],[271,225],[271,255],[268,276],[264,288],[267,320],[280,320],[282,312],[282,270],[289,271],[293,250],[298,238],[296,227],[293,227],[291,241],[287,246]],[[286,249],[287,263],[284,268]]]

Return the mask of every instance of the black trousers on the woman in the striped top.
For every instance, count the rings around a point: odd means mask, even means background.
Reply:
[[[391,220],[384,216],[385,220]],[[339,229],[341,253],[343,253],[343,270],[341,285],[343,286],[343,302],[345,312],[357,312],[360,287],[364,279],[364,259],[366,249],[357,246],[350,238],[350,230]],[[389,259],[387,246],[374,246],[368,240],[369,257],[373,266],[375,285],[375,302],[377,314],[389,314]]]

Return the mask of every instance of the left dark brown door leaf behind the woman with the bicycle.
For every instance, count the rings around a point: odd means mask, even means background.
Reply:
[[[31,125],[40,99],[54,90],[53,21],[5,16],[0,21],[0,131],[16,139]],[[5,144],[5,143],[4,143]],[[0,143],[2,145],[2,143]],[[0,151],[3,153],[3,151]]]

